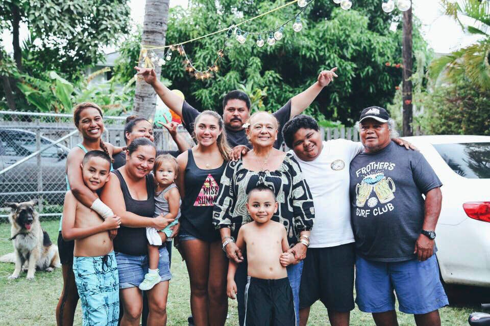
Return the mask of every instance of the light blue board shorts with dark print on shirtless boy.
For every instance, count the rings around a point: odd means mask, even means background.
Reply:
[[[82,303],[82,325],[116,326],[119,275],[114,252],[99,257],[74,257],[73,273]]]

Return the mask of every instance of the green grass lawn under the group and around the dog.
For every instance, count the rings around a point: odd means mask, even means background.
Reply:
[[[57,221],[43,222],[42,226],[56,243],[58,238]],[[12,252],[12,243],[5,238],[10,237],[10,225],[0,224],[0,255]],[[180,261],[177,251],[173,252],[171,271],[174,278],[170,281],[168,297],[168,325],[187,326],[187,316],[190,313],[189,305],[189,279],[184,262]],[[0,324],[9,325],[55,325],[55,308],[61,292],[61,269],[54,273],[37,272],[34,281],[26,280],[26,273],[22,273],[17,280],[8,280],[7,277],[14,270],[13,264],[0,263]],[[227,325],[237,325],[236,302],[229,301],[229,317]],[[479,307],[446,307],[440,310],[443,325],[467,325],[468,315]],[[414,325],[413,317],[398,313],[401,325]],[[75,324],[81,324],[81,310],[78,307]],[[313,305],[308,325],[329,325],[327,311],[320,302]],[[374,325],[371,314],[359,311],[357,308],[351,313],[351,325]]]

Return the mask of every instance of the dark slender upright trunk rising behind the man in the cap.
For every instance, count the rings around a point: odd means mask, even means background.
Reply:
[[[413,135],[412,130],[412,8],[403,13],[403,135]]]

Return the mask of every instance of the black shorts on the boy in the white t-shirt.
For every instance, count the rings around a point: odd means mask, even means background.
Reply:
[[[354,309],[355,243],[327,248],[309,248],[303,265],[300,309],[320,300],[327,309]]]

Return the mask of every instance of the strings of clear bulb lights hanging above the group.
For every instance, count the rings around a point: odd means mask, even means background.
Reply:
[[[352,0],[332,0],[333,3],[340,5],[340,8],[344,10],[349,10],[352,8]],[[165,45],[165,46],[142,46],[141,51],[140,51],[140,58],[139,62],[143,63],[144,68],[155,68],[155,65],[158,66],[163,66],[166,64],[167,61],[170,61],[172,59],[173,51],[177,50],[179,52],[179,55],[184,57],[183,60],[183,65],[185,70],[192,76],[195,77],[195,79],[199,80],[204,80],[213,77],[213,73],[216,73],[219,70],[218,64],[220,61],[223,60],[225,54],[228,52],[227,50],[227,45],[229,40],[232,38],[233,35],[235,35],[236,41],[240,44],[244,44],[247,42],[247,37],[249,35],[256,35],[257,40],[256,40],[256,45],[258,47],[263,47],[265,42],[269,46],[274,46],[276,44],[276,41],[279,41],[283,38],[284,36],[284,29],[285,26],[291,22],[295,21],[292,24],[292,30],[296,33],[300,32],[303,29],[303,24],[301,22],[301,14],[303,11],[307,9],[309,5],[311,5],[314,2],[314,0],[293,0],[289,3],[286,3],[280,7],[274,8],[272,10],[269,10],[263,14],[260,14],[258,16],[252,17],[250,19],[244,20],[238,24],[232,25],[229,28],[225,28],[207,35],[203,35],[185,42],[180,42],[180,43],[175,43],[171,45]],[[252,21],[254,19],[257,19],[259,17],[265,16],[267,14],[270,14],[274,11],[277,11],[279,9],[282,9],[284,7],[290,6],[294,3],[297,3],[298,6],[301,8],[301,10],[292,18],[286,20],[284,23],[280,24],[279,26],[276,26],[274,29],[263,31],[263,32],[248,32],[243,29],[241,29],[239,26],[242,24],[245,24],[249,21]],[[400,11],[407,11],[408,9],[411,8],[411,0],[383,0],[381,4],[381,9],[386,12],[386,13],[391,13],[395,10],[395,8],[398,8]],[[208,66],[208,69],[206,70],[199,70],[197,69],[192,61],[189,59],[187,56],[187,53],[184,49],[184,44],[197,41],[199,39],[203,39],[205,37],[209,37],[215,34],[227,32],[224,45],[221,49],[216,51],[217,58],[214,60],[213,64],[211,66]],[[262,35],[267,37],[267,40],[265,41],[262,38]],[[165,54],[165,58],[159,58],[157,54],[154,52],[156,49],[165,49],[167,48],[167,52]]]

